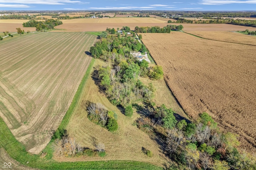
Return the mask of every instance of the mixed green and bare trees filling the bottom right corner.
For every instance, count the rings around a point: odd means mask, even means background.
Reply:
[[[221,133],[207,113],[200,114],[198,123],[177,123],[172,109],[157,107],[152,115],[139,118],[136,125],[150,134],[160,134],[165,151],[176,162],[177,169],[254,170],[256,158],[237,150],[237,135]]]

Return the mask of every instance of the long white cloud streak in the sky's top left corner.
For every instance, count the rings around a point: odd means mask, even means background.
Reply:
[[[64,5],[64,3],[89,3],[78,0],[0,0],[0,3]]]

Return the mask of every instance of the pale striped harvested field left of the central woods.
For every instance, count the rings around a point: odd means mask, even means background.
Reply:
[[[95,36],[34,33],[0,42],[0,116],[38,154],[62,121],[91,61]]]

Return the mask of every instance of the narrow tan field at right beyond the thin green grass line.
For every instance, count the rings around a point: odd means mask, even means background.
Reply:
[[[235,43],[243,43],[256,45],[256,37],[248,36],[244,34],[238,34],[236,32],[200,32],[200,31],[188,31],[187,33],[193,34],[195,36],[199,36],[206,39],[218,40],[223,42],[235,42]]]

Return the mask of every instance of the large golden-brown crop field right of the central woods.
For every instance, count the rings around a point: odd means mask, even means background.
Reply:
[[[196,119],[206,111],[240,135],[241,148],[256,152],[255,47],[182,32],[142,37],[186,113]]]

